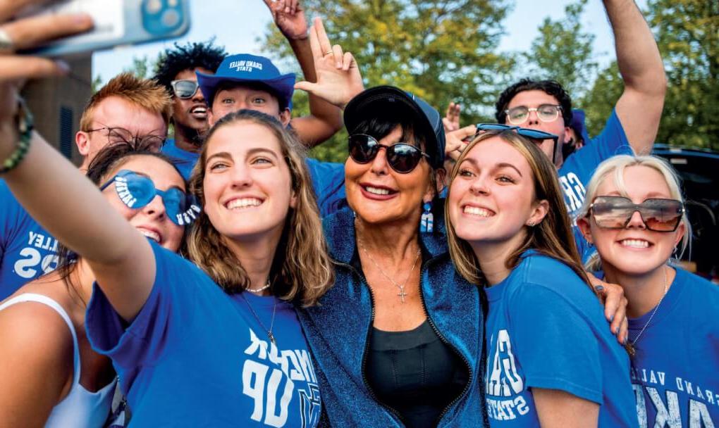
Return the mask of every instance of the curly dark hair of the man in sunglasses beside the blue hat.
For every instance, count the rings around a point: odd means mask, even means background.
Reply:
[[[155,80],[170,90],[170,82],[183,70],[206,68],[214,72],[227,52],[224,46],[214,46],[213,43],[214,39],[207,42],[188,42],[182,46],[175,43],[174,49],[160,53],[155,66]]]

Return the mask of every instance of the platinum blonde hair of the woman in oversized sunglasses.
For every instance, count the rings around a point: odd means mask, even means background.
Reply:
[[[679,176],[669,162],[656,156],[619,154],[617,156],[610,157],[597,167],[594,175],[592,175],[592,180],[590,180],[589,185],[587,185],[587,194],[585,195],[584,203],[582,203],[582,206],[577,211],[577,218],[589,217],[589,207],[592,205],[595,197],[597,197],[597,189],[607,177],[613,177],[614,185],[617,187],[617,190],[619,190],[619,194],[628,197],[626,183],[624,182],[624,170],[628,167],[636,166],[649,167],[654,169],[656,172],[659,172],[659,174],[664,177],[664,182],[666,182],[669,187],[669,195],[672,196],[672,199],[676,199],[684,203],[682,190],[679,186]],[[686,211],[684,212],[684,215],[682,215],[682,223],[684,223],[684,227],[686,229],[684,236],[682,237],[679,256],[686,251],[686,249],[690,246],[691,241],[691,225],[689,223],[689,219],[687,218]],[[600,259],[599,254],[596,252],[592,254],[585,266],[587,266],[587,269],[590,271],[602,269],[602,260]]]

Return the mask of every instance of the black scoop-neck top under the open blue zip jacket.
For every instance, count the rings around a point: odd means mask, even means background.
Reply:
[[[441,411],[467,383],[462,360],[428,321],[409,331],[372,328],[366,374],[377,399],[411,428],[436,427]]]

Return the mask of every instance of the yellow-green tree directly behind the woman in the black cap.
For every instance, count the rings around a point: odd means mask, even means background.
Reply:
[[[331,42],[352,52],[365,85],[395,85],[440,110],[458,101],[463,123],[490,116],[481,106],[493,105],[512,76],[513,58],[496,52],[508,12],[505,0],[306,0],[303,6],[308,16],[323,17]],[[293,58],[274,24],[260,41],[285,65]],[[307,112],[306,98],[293,102],[294,115]],[[314,155],[344,161],[346,135],[322,144]]]

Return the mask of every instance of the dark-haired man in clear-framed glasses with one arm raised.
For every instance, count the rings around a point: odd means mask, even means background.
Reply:
[[[505,89],[496,103],[501,124],[539,129],[559,136],[545,140],[542,151],[555,159],[569,215],[585,198],[585,186],[597,165],[615,154],[649,154],[659,129],[667,78],[659,48],[633,0],[604,0],[614,33],[617,65],[624,92],[603,131],[582,150],[562,157],[571,138],[572,98],[554,80],[523,79]]]

